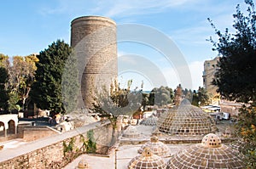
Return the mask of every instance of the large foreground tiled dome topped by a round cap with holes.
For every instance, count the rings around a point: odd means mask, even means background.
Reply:
[[[192,168],[244,168],[241,156],[235,149],[221,144],[215,134],[207,134],[201,144],[183,149],[167,162],[166,169]]]

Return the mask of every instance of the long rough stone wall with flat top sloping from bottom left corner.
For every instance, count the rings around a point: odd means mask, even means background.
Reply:
[[[118,127],[117,132],[120,127]],[[17,149],[0,151],[0,169],[9,168],[62,168],[73,158],[85,153],[83,138],[92,130],[96,138],[97,153],[107,153],[113,127],[109,122],[96,122],[69,132],[41,138]],[[104,148],[102,150],[102,148]]]

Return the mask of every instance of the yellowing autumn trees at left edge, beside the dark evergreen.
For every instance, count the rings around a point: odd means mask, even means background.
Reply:
[[[0,54],[0,65],[8,72],[8,82],[5,87],[8,90],[8,107],[9,111],[22,110],[25,108],[26,99],[34,80],[36,70],[35,63],[38,61],[35,54],[23,57],[14,56],[12,63],[9,62],[9,56]],[[19,101],[21,101],[19,105]]]

